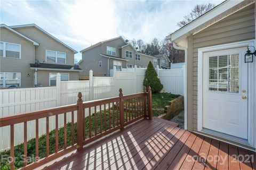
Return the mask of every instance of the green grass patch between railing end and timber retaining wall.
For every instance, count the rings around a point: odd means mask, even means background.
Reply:
[[[159,116],[164,113],[164,107],[168,105],[169,101],[179,97],[180,95],[173,95],[167,92],[152,94],[152,108],[153,116]]]

